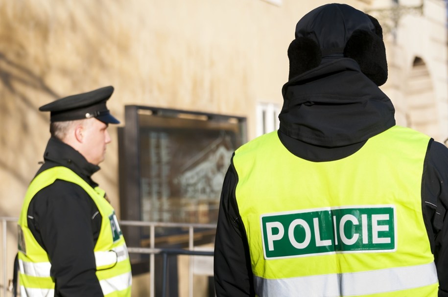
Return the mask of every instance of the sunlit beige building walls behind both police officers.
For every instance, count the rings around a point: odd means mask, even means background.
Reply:
[[[282,104],[295,24],[329,2],[0,0],[0,216],[19,215],[49,137],[48,114],[37,109],[61,96],[113,85],[109,107],[122,120],[126,104],[234,114],[248,118],[253,138],[257,102]],[[365,10],[391,1],[344,2]],[[436,125],[425,132],[443,141],[446,15],[442,0],[424,2],[423,16],[403,17],[397,39],[385,37],[390,73],[383,90],[405,125],[406,80],[414,57],[423,58],[437,111]],[[117,128],[110,131],[113,142],[94,179],[118,208]],[[14,224],[7,232],[10,268]]]

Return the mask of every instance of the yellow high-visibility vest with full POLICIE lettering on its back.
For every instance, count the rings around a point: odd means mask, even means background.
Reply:
[[[429,139],[394,126],[327,162],[294,156],[277,132],[236,150],[257,295],[437,297],[421,199]]]

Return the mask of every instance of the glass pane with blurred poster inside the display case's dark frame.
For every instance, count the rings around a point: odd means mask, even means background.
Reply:
[[[224,175],[241,144],[238,122],[179,114],[141,114],[139,122],[141,220],[215,223]]]

